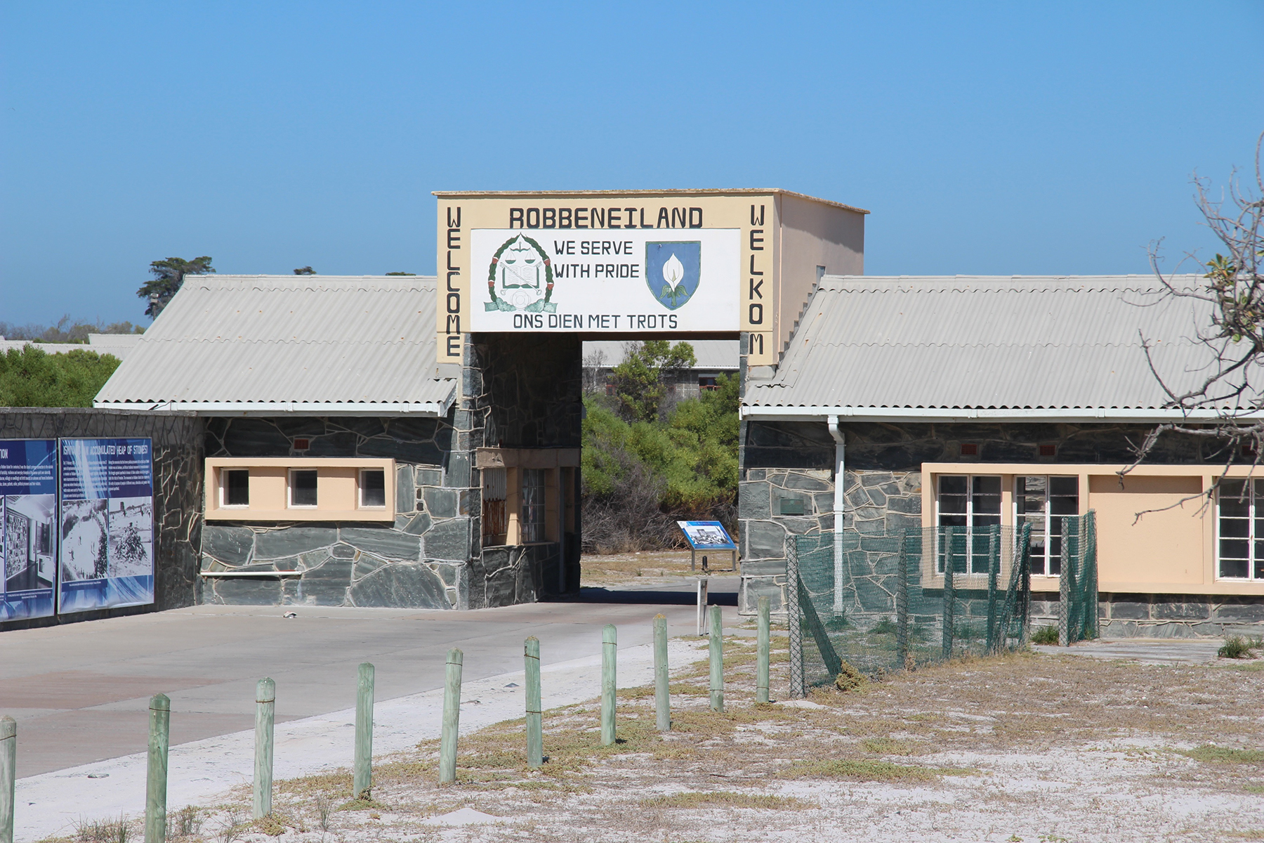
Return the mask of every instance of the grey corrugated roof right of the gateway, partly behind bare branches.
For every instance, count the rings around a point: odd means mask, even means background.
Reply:
[[[1163,293],[1153,276],[827,276],[776,375],[750,382],[743,403],[1159,408],[1141,336],[1177,391],[1212,361],[1196,339],[1211,306]]]

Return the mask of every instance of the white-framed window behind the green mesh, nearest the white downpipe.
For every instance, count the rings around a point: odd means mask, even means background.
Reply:
[[[986,574],[991,527],[1001,523],[1001,478],[940,474],[935,508],[938,573],[949,557],[954,573],[967,573],[968,556],[968,573]]]

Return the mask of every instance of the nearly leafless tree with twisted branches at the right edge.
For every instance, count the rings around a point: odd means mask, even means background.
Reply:
[[[1184,368],[1203,374],[1192,384],[1172,385],[1164,379],[1154,359],[1155,345],[1141,336],[1150,370],[1159,380],[1167,402],[1164,407],[1181,411],[1181,421],[1155,425],[1136,446],[1136,459],[1120,474],[1139,465],[1154,450],[1163,434],[1176,432],[1216,440],[1225,454],[1226,466],[1235,463],[1258,465],[1264,454],[1264,421],[1255,413],[1264,408],[1264,394],[1258,378],[1264,364],[1264,277],[1260,259],[1264,258],[1264,171],[1260,168],[1260,149],[1264,133],[1255,142],[1254,185],[1244,190],[1235,169],[1229,181],[1227,197],[1216,197],[1211,182],[1194,176],[1194,201],[1203,220],[1224,245],[1226,254],[1217,253],[1207,262],[1194,260],[1206,270],[1205,283],[1188,287],[1178,283],[1174,273],[1159,269],[1159,244],[1150,248],[1150,265],[1163,283],[1165,294],[1174,298],[1202,302],[1210,308],[1211,325],[1200,330],[1193,339],[1203,360],[1187,360]],[[1207,423],[1191,421],[1201,413],[1213,411]],[[1243,455],[1246,455],[1243,459]],[[1205,503],[1220,485],[1186,498],[1203,497]],[[1173,504],[1179,506],[1179,504]]]

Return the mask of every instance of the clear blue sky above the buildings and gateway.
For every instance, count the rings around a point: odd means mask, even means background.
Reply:
[[[435,268],[432,190],[784,187],[866,272],[1146,272],[1264,130],[1264,3],[9,3],[0,321],[150,260]]]

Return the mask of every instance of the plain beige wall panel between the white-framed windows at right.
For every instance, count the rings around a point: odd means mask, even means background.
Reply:
[[[1198,502],[1162,509],[1202,490],[1201,476],[1130,476],[1120,488],[1115,475],[1088,478],[1088,506],[1097,511],[1098,590],[1115,584],[1203,584],[1203,521]],[[1135,522],[1135,523],[1134,523]]]

